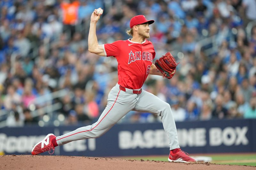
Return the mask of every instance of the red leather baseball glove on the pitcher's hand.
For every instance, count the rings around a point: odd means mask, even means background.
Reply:
[[[179,64],[179,63],[178,63]],[[171,79],[176,72],[176,66],[178,65],[170,52],[156,60],[156,68],[161,71],[166,78]]]

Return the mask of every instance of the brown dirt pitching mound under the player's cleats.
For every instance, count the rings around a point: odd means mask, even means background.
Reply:
[[[79,156],[4,155],[0,156],[0,169],[88,169],[88,170],[133,170],[133,169],[180,169],[180,170],[248,170],[254,166],[217,165],[211,163],[175,163],[149,160],[113,159]]]

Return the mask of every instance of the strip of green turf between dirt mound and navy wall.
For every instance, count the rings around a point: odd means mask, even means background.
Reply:
[[[190,155],[191,157],[196,156],[207,156],[211,157],[211,163],[215,164],[227,164],[227,165],[247,165],[256,166],[256,153],[234,153],[234,154],[202,154],[202,155]],[[159,160],[168,161],[167,156],[141,156],[141,157],[124,157],[124,159],[144,159],[144,160]]]

